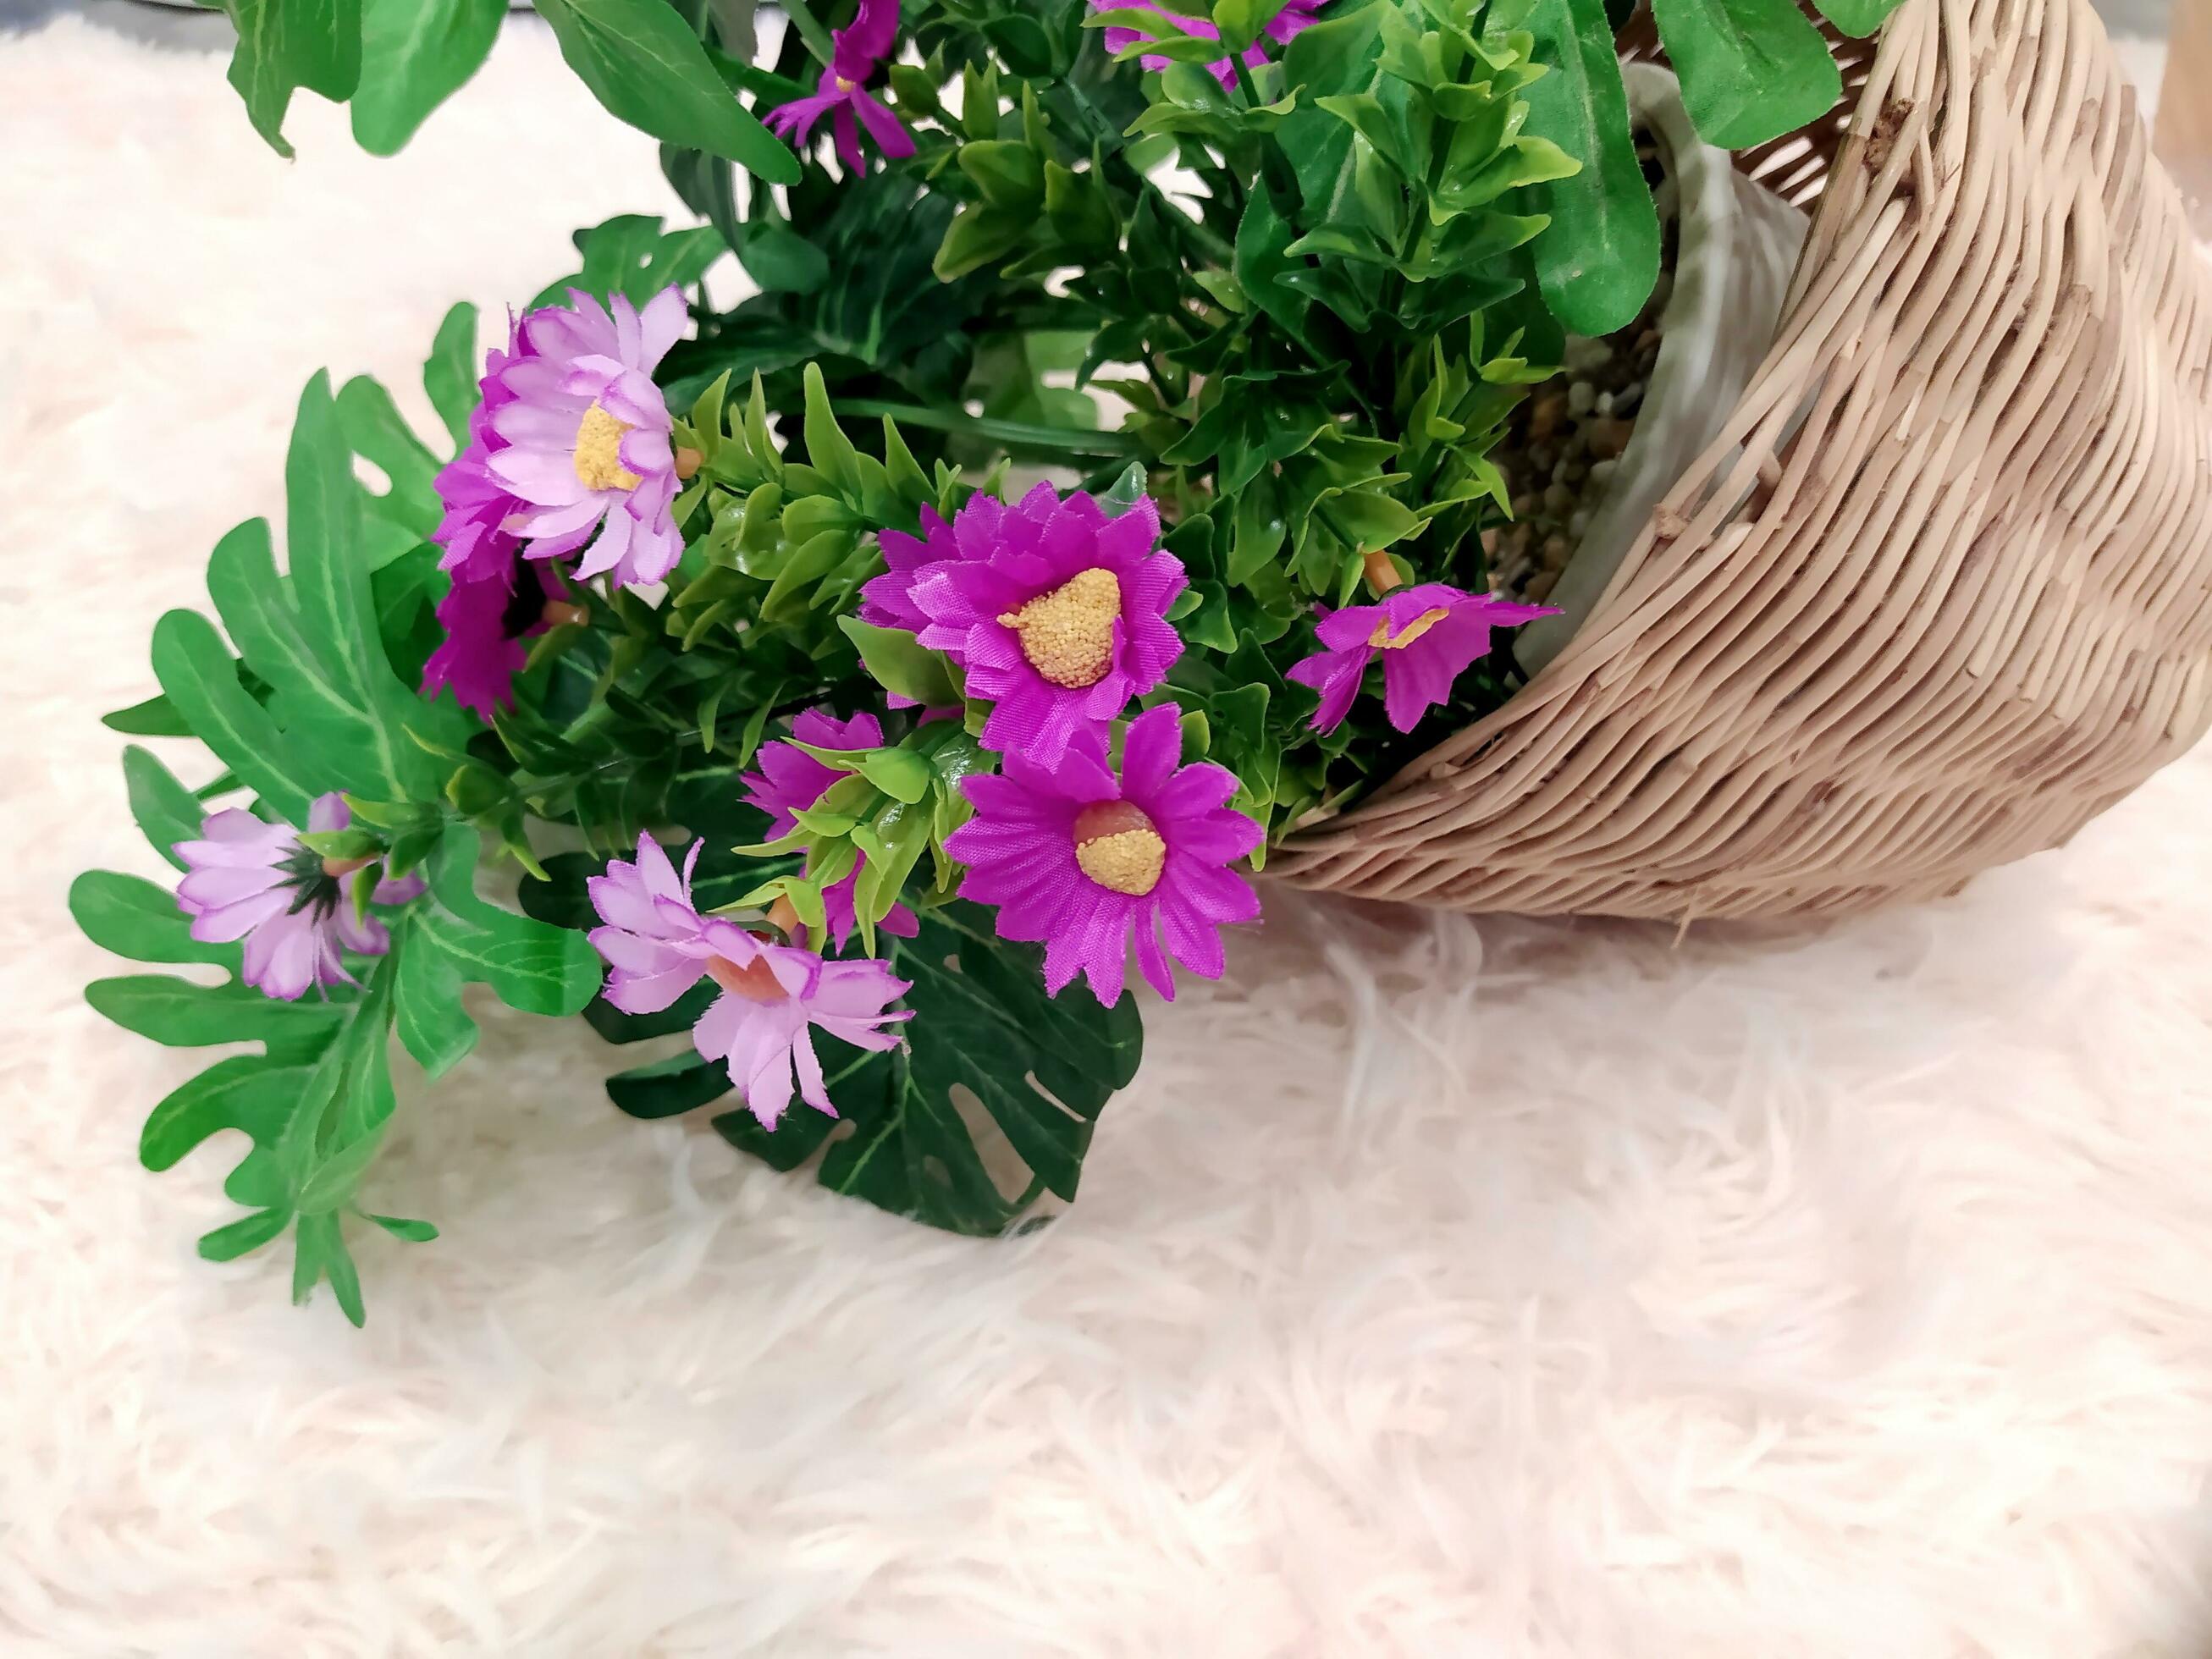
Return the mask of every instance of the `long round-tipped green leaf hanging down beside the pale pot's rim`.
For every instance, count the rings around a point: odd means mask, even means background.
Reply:
[[[1628,128],[1628,93],[1604,0],[1537,0],[1528,13],[1535,80],[1526,133],[1546,137],[1582,170],[1531,186],[1551,223],[1535,239],[1544,303],[1575,334],[1626,327],[1659,281],[1659,212]]]

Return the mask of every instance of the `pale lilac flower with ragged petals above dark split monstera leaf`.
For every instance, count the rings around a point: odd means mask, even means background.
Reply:
[[[898,1033],[883,1026],[914,1013],[885,1004],[907,991],[907,980],[876,960],[825,962],[814,951],[759,940],[728,918],[701,916],[690,891],[701,845],[692,843],[679,876],[659,843],[639,836],[635,865],[615,858],[586,883],[606,922],[591,933],[608,964],[606,1000],[624,1013],[659,1013],[701,975],[714,980],[721,995],[692,1026],[692,1046],[730,1068],[745,1108],[774,1128],[792,1104],[796,1068],[799,1097],[836,1117],[814,1029],[856,1048],[896,1048]]]

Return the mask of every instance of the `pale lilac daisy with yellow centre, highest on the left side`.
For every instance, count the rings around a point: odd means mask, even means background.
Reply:
[[[580,577],[659,582],[684,538],[670,513],[675,422],[653,369],[684,334],[684,292],[668,285],[644,310],[622,294],[599,305],[571,288],[568,299],[522,319],[522,349],[493,376],[487,420],[504,447],[484,456],[484,473],[518,500],[502,529],[533,560],[582,549]]]

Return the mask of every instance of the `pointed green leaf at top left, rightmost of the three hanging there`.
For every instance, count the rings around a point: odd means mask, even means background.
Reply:
[[[799,184],[799,157],[761,126],[666,0],[542,0],[568,66],[611,115],[657,139]]]

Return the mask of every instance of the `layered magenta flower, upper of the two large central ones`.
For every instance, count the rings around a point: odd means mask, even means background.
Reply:
[[[860,615],[925,619],[916,637],[991,703],[984,748],[1055,765],[1077,732],[1119,717],[1183,653],[1168,624],[1183,562],[1159,551],[1150,495],[1106,518],[1082,491],[1062,500],[1037,484],[1015,507],[971,495],[951,524],[922,522],[925,544],[880,535],[889,571],[863,588]]]

